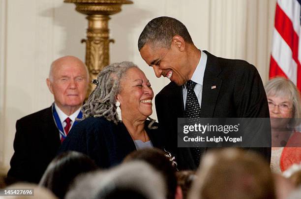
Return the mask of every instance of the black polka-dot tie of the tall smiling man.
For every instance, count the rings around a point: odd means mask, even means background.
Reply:
[[[200,118],[201,117],[201,107],[198,101],[197,96],[194,93],[194,87],[197,83],[194,81],[188,80],[186,83],[187,87],[187,99],[185,104],[185,118]],[[189,120],[189,122],[193,123],[193,120]],[[197,134],[194,134],[197,136]],[[191,148],[191,153],[195,164],[199,166],[200,158],[201,158],[202,149],[200,147]]]

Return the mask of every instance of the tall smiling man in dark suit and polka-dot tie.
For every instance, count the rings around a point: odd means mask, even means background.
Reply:
[[[177,118],[269,118],[257,69],[242,60],[200,51],[177,19],[152,19],[140,34],[138,48],[157,77],[171,80],[156,95],[155,106],[159,126],[168,134],[168,149],[177,155],[180,168],[196,169],[207,149],[177,148]],[[262,136],[270,142],[269,132]],[[270,160],[271,148],[251,149]]]

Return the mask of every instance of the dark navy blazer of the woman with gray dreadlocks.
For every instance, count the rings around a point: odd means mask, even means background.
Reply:
[[[162,148],[162,135],[157,130],[148,129],[149,123],[147,120],[145,130],[152,145]],[[157,123],[153,126],[157,126]],[[108,168],[120,164],[125,156],[134,150],[134,141],[123,123],[116,125],[102,117],[89,117],[72,128],[59,153],[78,151],[87,154],[101,168]]]

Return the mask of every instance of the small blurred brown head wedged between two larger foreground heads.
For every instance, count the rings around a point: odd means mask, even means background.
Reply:
[[[196,178],[196,173],[193,170],[182,170],[176,173],[178,185],[181,186],[183,199],[186,199],[191,185]]]

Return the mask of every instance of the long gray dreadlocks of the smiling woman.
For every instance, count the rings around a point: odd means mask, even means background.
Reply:
[[[82,107],[84,120],[88,117],[104,117],[108,121],[118,123],[118,113],[116,111],[115,96],[120,92],[120,79],[125,75],[129,68],[136,67],[137,65],[132,62],[114,63],[105,66],[97,76],[98,85],[90,94],[87,102]],[[151,119],[149,129],[155,120]]]

